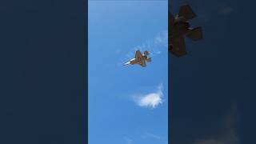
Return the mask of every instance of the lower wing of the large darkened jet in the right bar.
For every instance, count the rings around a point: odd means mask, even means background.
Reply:
[[[186,55],[185,39],[183,37],[174,37],[172,39],[172,46],[170,53],[177,57]]]

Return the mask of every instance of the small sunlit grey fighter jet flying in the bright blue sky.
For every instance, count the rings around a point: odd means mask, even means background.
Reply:
[[[144,51],[144,54],[142,54],[140,50],[137,50],[135,57],[129,62],[126,62],[125,65],[139,64],[142,67],[146,67],[146,62],[151,62],[151,58],[149,58],[147,55],[149,55],[148,51]]]

